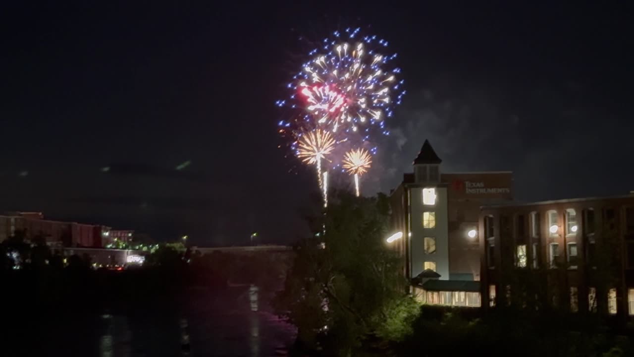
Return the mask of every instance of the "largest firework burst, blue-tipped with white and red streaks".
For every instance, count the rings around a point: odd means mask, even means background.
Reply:
[[[368,140],[370,125],[387,135],[384,119],[392,116],[392,108],[405,94],[400,88],[403,81],[396,79],[400,69],[388,68],[396,54],[380,53],[387,41],[359,37],[358,32],[346,29],[345,41],[339,38],[342,33],[333,32],[335,41],[324,39],[319,48],[310,51],[311,60],[288,83],[290,106],[303,108],[305,122],[327,129],[337,140],[353,133]],[[398,93],[396,98],[393,93]],[[285,106],[287,101],[276,104]]]

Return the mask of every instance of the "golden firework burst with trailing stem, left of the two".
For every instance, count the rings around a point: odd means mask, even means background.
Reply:
[[[327,159],[326,156],[332,152],[335,147],[335,139],[328,131],[316,129],[301,135],[297,145],[297,158],[308,165],[314,164],[317,168],[319,187],[323,191],[324,204],[326,204],[328,201],[325,182],[321,179],[321,159]]]

